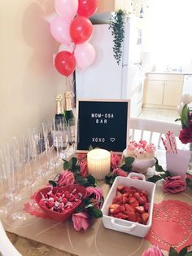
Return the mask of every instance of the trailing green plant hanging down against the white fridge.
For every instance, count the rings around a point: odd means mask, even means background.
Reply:
[[[109,20],[109,29],[111,29],[111,34],[114,37],[113,53],[117,64],[120,64],[122,57],[122,47],[124,42],[124,16],[125,11],[119,10],[111,15]]]

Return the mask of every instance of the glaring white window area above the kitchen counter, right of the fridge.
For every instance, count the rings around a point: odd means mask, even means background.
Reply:
[[[150,0],[151,55],[159,65],[192,62],[192,0]]]

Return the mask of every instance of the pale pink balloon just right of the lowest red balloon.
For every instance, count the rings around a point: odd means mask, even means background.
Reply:
[[[95,58],[94,46],[92,46],[89,42],[76,45],[74,55],[78,67],[81,69],[87,68],[90,64],[93,63]]]

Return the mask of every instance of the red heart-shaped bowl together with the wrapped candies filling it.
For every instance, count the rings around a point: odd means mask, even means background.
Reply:
[[[41,188],[35,196],[35,201],[50,218],[63,222],[71,217],[85,196],[85,187],[72,184],[63,188]]]

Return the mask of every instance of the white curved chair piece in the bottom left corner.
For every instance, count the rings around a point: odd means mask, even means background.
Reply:
[[[15,249],[14,245],[11,244],[4,228],[2,227],[2,223],[0,221],[0,255],[2,256],[22,256],[17,249]]]

